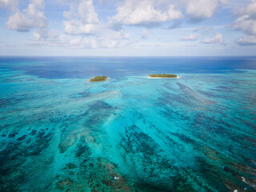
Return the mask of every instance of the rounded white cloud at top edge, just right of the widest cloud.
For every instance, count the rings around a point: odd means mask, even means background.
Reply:
[[[191,22],[200,22],[211,18],[219,7],[227,3],[226,0],[186,0],[186,14]]]

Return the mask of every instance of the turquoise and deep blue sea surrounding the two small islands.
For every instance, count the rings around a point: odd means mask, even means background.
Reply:
[[[256,58],[0,58],[0,191],[256,191]]]

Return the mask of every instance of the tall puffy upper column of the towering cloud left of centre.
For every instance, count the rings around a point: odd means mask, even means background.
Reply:
[[[94,34],[99,30],[98,14],[94,10],[92,0],[79,0],[77,7],[70,7],[70,11],[64,11],[63,21],[66,34]]]

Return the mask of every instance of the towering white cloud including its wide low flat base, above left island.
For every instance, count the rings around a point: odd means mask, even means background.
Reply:
[[[74,49],[113,48],[122,45],[122,40],[129,39],[130,34],[124,30],[110,30],[94,10],[92,0],[77,0],[64,11],[64,34],[56,30],[38,30],[34,33],[32,46],[65,46]],[[126,42],[126,41],[125,41]]]

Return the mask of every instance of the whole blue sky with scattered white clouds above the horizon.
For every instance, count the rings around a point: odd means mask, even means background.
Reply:
[[[256,0],[0,0],[0,55],[256,55]]]

